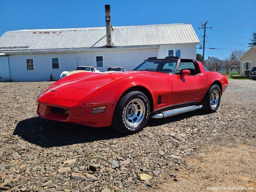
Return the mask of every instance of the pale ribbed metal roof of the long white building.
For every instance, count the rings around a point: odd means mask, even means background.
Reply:
[[[118,26],[114,47],[200,43],[191,24]],[[106,48],[106,28],[67,28],[8,31],[0,37],[0,52]]]

